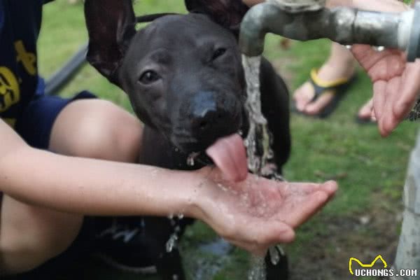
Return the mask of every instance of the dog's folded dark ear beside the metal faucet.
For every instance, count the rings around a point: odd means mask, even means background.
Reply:
[[[248,6],[241,0],[185,0],[187,10],[191,13],[204,13],[235,33],[239,31],[241,20]]]

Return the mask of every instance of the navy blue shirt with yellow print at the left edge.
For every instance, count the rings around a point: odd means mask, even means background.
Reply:
[[[0,0],[0,118],[14,125],[36,94],[43,0]]]

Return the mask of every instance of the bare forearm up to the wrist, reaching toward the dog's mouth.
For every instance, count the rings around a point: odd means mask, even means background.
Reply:
[[[29,147],[1,158],[3,192],[29,204],[89,215],[193,216],[193,172],[55,155]],[[191,204],[189,203],[189,201]]]

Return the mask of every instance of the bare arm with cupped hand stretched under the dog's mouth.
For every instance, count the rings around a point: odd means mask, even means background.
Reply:
[[[337,189],[335,183],[279,183],[251,174],[244,182],[230,184],[216,168],[181,172],[56,155],[30,148],[2,120],[0,136],[0,191],[7,195],[95,216],[183,213],[255,253],[292,241],[293,229]],[[264,216],[258,205],[266,205]]]

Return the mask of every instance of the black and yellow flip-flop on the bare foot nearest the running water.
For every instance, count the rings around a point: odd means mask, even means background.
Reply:
[[[314,102],[322,94],[325,94],[327,92],[332,92],[334,96],[332,97],[330,103],[327,104],[327,106],[325,106],[324,109],[322,109],[319,113],[315,115],[308,115],[306,113],[303,113],[302,111],[297,110],[295,104],[293,104],[292,111],[308,117],[327,118],[333,111],[335,111],[337,105],[344,97],[344,95],[348,92],[349,86],[351,85],[351,83],[354,82],[354,80],[356,80],[356,75],[353,75],[350,78],[338,78],[337,80],[331,81],[321,80],[321,78],[318,77],[318,69],[312,69],[311,77],[309,78],[309,83],[311,83],[312,87],[314,88],[315,94],[311,102]]]

